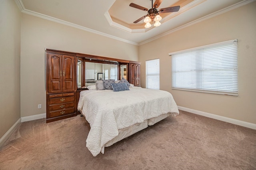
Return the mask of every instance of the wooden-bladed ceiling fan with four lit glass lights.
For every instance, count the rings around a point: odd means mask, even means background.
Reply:
[[[141,20],[144,19],[144,22],[146,23],[145,28],[150,28],[151,24],[150,22],[154,21],[154,26],[160,26],[160,20],[162,20],[162,17],[159,15],[159,13],[167,13],[167,12],[178,12],[180,10],[180,6],[172,6],[172,7],[167,7],[167,8],[161,8],[159,11],[156,9],[160,6],[160,4],[162,3],[163,0],[155,0],[155,3],[153,5],[153,0],[151,0],[152,2],[152,8],[148,10],[148,8],[144,8],[143,6],[139,6],[137,4],[134,3],[130,3],[129,6],[133,7],[133,8],[137,8],[139,10],[143,10],[143,11],[148,11],[148,14],[142,16],[141,18],[139,18],[138,20],[134,21],[133,23],[138,23]]]

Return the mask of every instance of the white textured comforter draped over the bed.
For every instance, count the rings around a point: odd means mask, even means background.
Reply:
[[[86,147],[93,156],[104,153],[104,145],[126,128],[166,113],[178,115],[178,107],[167,91],[132,87],[129,91],[86,90],[80,92],[82,111],[90,132]]]

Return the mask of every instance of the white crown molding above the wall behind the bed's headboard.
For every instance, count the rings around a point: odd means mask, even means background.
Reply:
[[[90,28],[86,28],[86,27],[83,27],[83,26],[80,26],[78,24],[74,24],[74,23],[71,23],[71,22],[67,22],[67,21],[64,21],[64,20],[60,20],[58,18],[54,18],[54,17],[51,17],[51,16],[47,16],[47,15],[44,15],[44,14],[40,14],[38,12],[34,12],[34,11],[31,11],[31,10],[27,10],[26,8],[24,8],[24,5],[22,3],[22,0],[15,0],[16,4],[18,5],[18,7],[20,8],[20,11],[24,14],[28,14],[28,15],[32,15],[32,16],[36,16],[36,17],[39,17],[39,18],[43,18],[43,19],[46,19],[46,20],[50,20],[50,21],[53,21],[53,22],[57,22],[59,24],[64,24],[64,25],[67,25],[67,26],[71,26],[71,27],[74,27],[74,28],[78,28],[80,30],[84,30],[84,31],[88,31],[88,32],[92,32],[94,34],[98,34],[98,35],[101,35],[101,36],[105,36],[105,37],[108,37],[108,38],[112,38],[112,39],[115,39],[115,40],[118,40],[118,41],[122,41],[122,42],[126,42],[126,43],[130,43],[130,44],[133,44],[133,45],[138,45],[138,43],[135,43],[135,42],[131,42],[131,41],[128,41],[128,40],[125,40],[125,39],[122,39],[122,38],[118,38],[116,36],[111,36],[109,34],[105,34],[105,33],[102,33],[102,32],[99,32],[99,31],[96,31],[96,30],[92,30]]]

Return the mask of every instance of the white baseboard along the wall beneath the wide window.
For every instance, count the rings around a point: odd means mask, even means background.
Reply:
[[[209,118],[212,118],[212,119],[217,119],[219,121],[232,123],[234,125],[239,125],[239,126],[242,126],[242,127],[256,129],[256,124],[253,124],[253,123],[239,121],[239,120],[236,120],[236,119],[231,119],[231,118],[224,117],[224,116],[214,115],[212,113],[206,113],[206,112],[203,112],[203,111],[189,109],[189,108],[182,107],[182,106],[178,106],[178,109],[180,109],[182,111],[187,111],[187,112],[190,112],[190,113],[194,113],[194,114],[197,114],[197,115],[209,117]]]

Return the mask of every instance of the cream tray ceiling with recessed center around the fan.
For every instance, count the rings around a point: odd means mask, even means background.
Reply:
[[[151,8],[151,0],[16,0],[20,10],[61,24],[141,45],[212,16],[233,10],[255,0],[163,0],[160,7],[180,5],[180,10],[160,14],[159,27],[144,28],[147,14],[130,3]],[[154,0],[153,0],[154,3]]]

